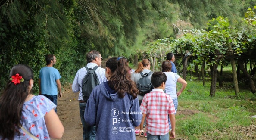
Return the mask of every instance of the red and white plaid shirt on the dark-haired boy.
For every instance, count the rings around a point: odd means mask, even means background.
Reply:
[[[172,98],[162,89],[147,93],[140,110],[147,117],[147,132],[151,135],[165,135],[169,132],[168,114],[175,114]]]

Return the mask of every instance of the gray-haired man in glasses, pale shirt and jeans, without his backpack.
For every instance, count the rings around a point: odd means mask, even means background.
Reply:
[[[87,65],[88,68],[93,68],[95,66],[98,66],[98,68],[95,70],[99,82],[106,82],[107,78],[105,75],[105,69],[101,68],[101,62],[102,57],[101,54],[98,51],[92,50],[88,54],[86,54],[87,59]],[[83,101],[82,96],[82,87],[83,87],[83,79],[87,73],[87,70],[85,67],[82,67],[79,69],[76,73],[75,79],[72,84],[72,90],[73,92],[79,92],[79,108],[80,108],[80,117],[83,124],[83,140],[95,140],[96,131],[95,126],[89,126],[86,124],[84,120],[84,110],[86,107],[86,101]]]

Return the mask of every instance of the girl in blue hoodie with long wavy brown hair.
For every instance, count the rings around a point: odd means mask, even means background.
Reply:
[[[142,112],[126,59],[110,58],[105,74],[108,81],[96,86],[87,101],[85,121],[96,126],[96,140],[135,140]]]

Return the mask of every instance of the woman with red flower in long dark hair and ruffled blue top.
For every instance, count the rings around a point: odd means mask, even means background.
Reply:
[[[11,69],[0,97],[0,140],[61,138],[64,127],[45,96],[32,94],[33,71],[24,64]]]

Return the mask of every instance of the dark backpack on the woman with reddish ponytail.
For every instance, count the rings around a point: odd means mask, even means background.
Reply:
[[[139,93],[142,96],[145,95],[146,93],[151,92],[151,90],[153,89],[151,81],[150,81],[150,79],[148,79],[148,76],[152,73],[153,73],[152,71],[149,73],[145,73],[145,74],[140,72],[140,75],[142,77],[139,79],[139,81],[137,83],[137,88],[139,89]]]

